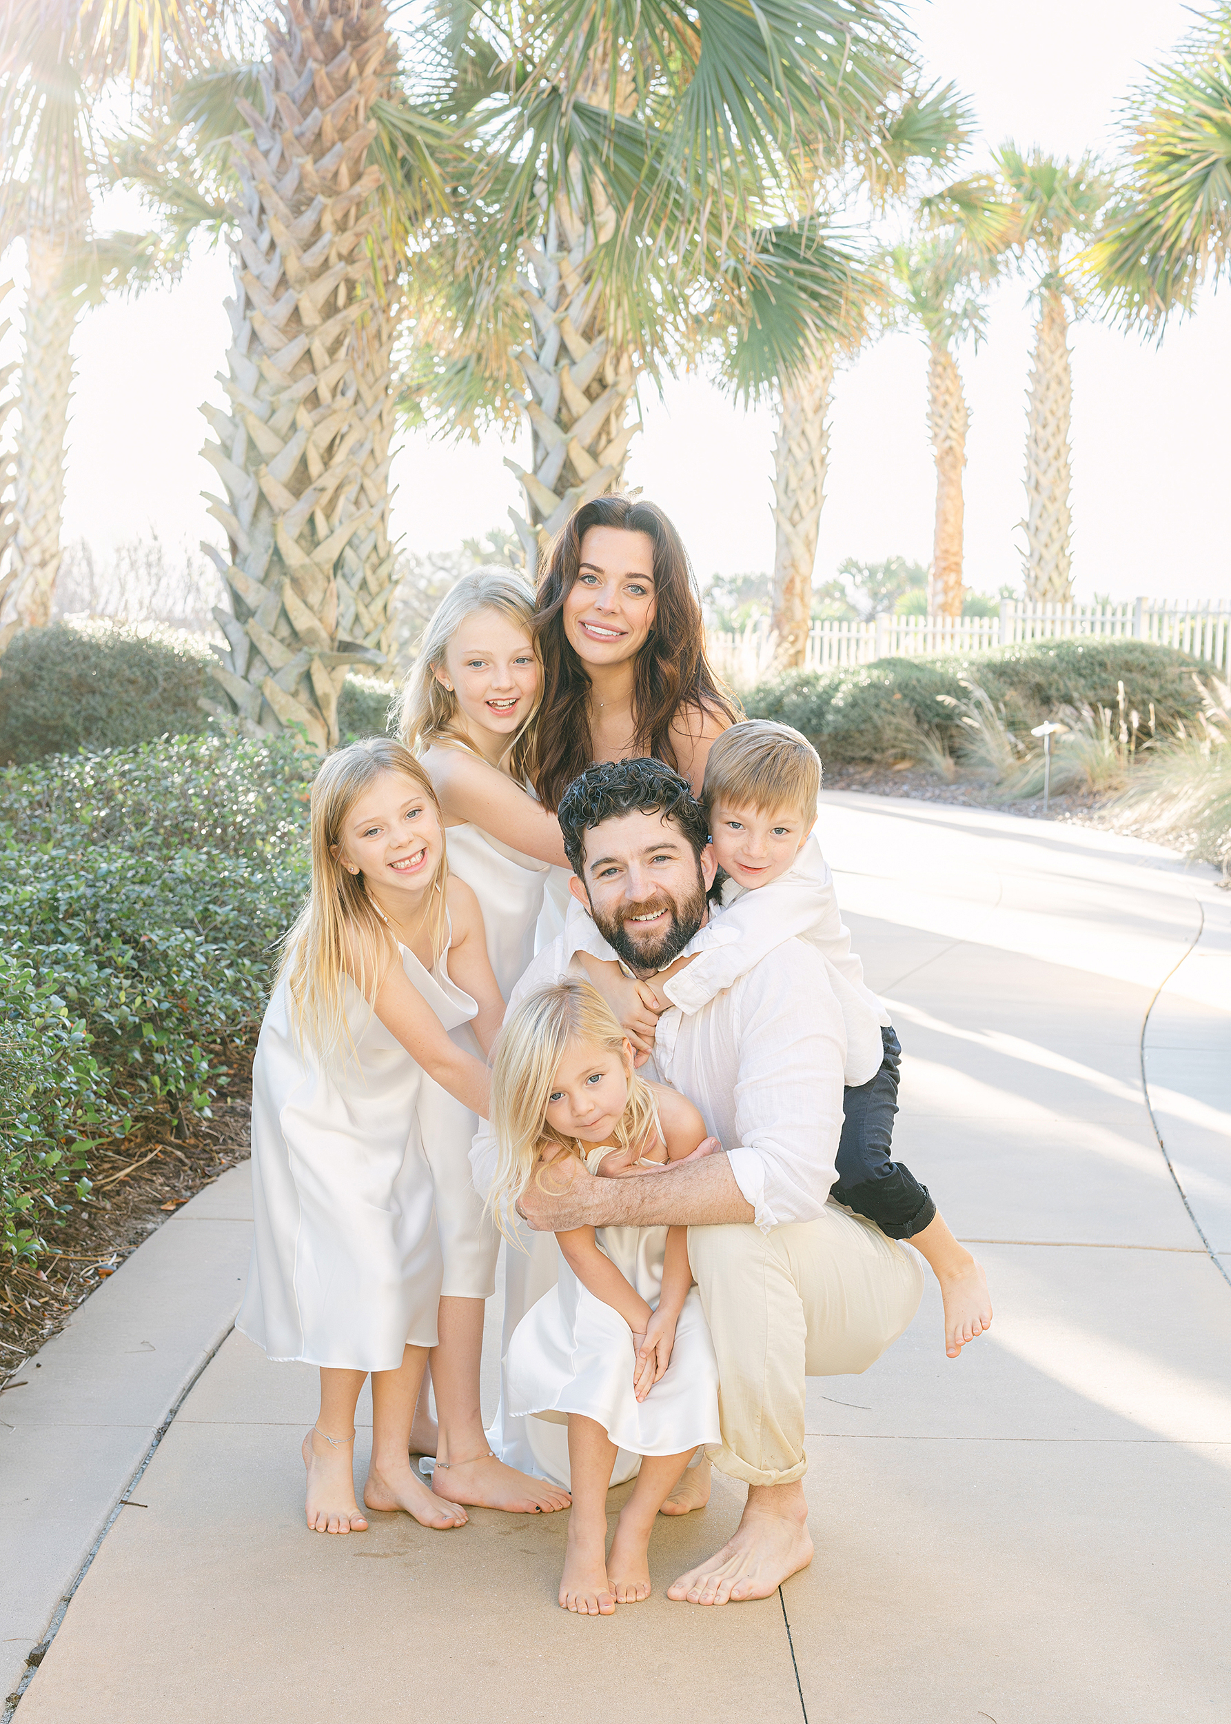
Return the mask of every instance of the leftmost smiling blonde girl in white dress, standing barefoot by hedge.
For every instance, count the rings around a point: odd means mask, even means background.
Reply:
[[[448,878],[428,774],[400,743],[331,755],[312,784],[312,890],[286,936],[253,1064],[255,1240],[238,1317],[271,1359],[321,1369],[303,1438],[307,1524],[367,1526],[355,1502],[355,1403],[372,1377],[369,1508],[455,1527],[412,1471],[410,1421],[441,1284],[428,1086],[486,1112],[503,1002],[474,893]],[[433,1126],[434,1129],[434,1126]],[[447,1148],[467,1165],[469,1136]]]

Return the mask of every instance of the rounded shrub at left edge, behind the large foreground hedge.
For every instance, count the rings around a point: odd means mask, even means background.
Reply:
[[[0,659],[0,762],[198,734],[209,721],[197,700],[216,688],[210,657],[203,641],[171,629],[24,629]]]

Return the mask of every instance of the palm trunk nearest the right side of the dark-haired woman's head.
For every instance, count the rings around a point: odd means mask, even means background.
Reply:
[[[833,353],[822,348],[807,372],[783,384],[774,441],[774,597],[778,665],[803,664],[812,628],[812,565],[829,464]]]

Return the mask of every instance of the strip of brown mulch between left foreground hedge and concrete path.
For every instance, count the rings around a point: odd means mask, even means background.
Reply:
[[[250,1148],[250,1081],[212,1103],[212,1119],[145,1121],[90,1165],[93,1191],[43,1229],[48,1250],[34,1264],[0,1262],[0,1391],[83,1298],[171,1215]]]

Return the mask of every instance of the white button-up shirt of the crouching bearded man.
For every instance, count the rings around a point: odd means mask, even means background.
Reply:
[[[586,979],[578,952],[616,960],[574,900],[564,933],[538,953],[509,1009],[564,976]],[[769,1233],[788,1221],[815,1221],[824,1209],[836,1179],[845,1060],[847,1028],[826,964],[791,938],[697,1010],[664,1012],[652,1064],[641,1071],[698,1109],[728,1152],[757,1226]],[[495,1136],[483,1121],[471,1146],[481,1196],[495,1165]]]

